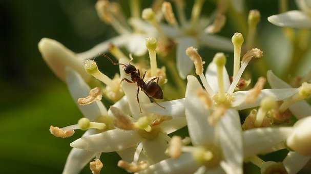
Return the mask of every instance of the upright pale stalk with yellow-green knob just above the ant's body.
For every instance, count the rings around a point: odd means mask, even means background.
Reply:
[[[156,57],[156,48],[157,48],[157,39],[154,37],[146,38],[146,47],[149,52],[150,57],[150,69],[151,69],[151,76],[157,75],[157,57]]]

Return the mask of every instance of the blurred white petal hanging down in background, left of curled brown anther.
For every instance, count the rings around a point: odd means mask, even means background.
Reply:
[[[177,39],[177,70],[179,76],[183,79],[191,72],[194,64],[193,61],[186,55],[186,49],[188,47],[197,48],[197,41],[194,37],[181,37]]]

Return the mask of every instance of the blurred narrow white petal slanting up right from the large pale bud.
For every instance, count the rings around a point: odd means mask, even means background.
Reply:
[[[128,42],[131,41],[131,34],[123,34],[120,36],[113,37],[111,39],[105,40],[101,42],[100,44],[94,46],[90,50],[77,54],[77,57],[80,60],[88,60],[95,57],[98,57],[99,53],[105,53],[109,49],[109,45],[113,44],[117,47],[126,45]]]

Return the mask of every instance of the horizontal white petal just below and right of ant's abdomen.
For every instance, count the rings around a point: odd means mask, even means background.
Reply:
[[[184,98],[160,102],[159,105],[165,107],[162,108],[156,103],[150,103],[144,105],[144,110],[149,113],[167,115],[172,117],[185,117],[184,115]]]

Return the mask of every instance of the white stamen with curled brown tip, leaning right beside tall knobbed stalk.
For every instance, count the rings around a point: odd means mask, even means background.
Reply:
[[[232,81],[232,83],[231,83],[231,85],[230,85],[230,87],[229,87],[229,90],[228,90],[228,94],[232,94],[233,93],[233,91],[234,91],[234,89],[236,88],[236,86],[237,86],[237,84],[238,84],[238,82],[239,82],[239,80],[240,80],[240,78],[241,78],[241,76],[242,76],[242,74],[243,74],[243,72],[244,72],[244,70],[245,70],[245,68],[247,67],[247,64],[252,60],[252,58],[260,58],[260,57],[262,57],[262,51],[261,50],[259,50],[259,49],[257,49],[257,48],[254,48],[254,49],[252,49],[252,50],[249,50],[249,51],[247,51],[245,54],[244,54],[244,56],[243,56],[243,58],[242,58],[242,61],[241,61],[241,63],[242,63],[242,65],[241,65],[241,68],[240,68],[240,70],[238,71],[238,73],[237,73],[237,75],[235,76],[235,78],[233,79],[233,81]]]

